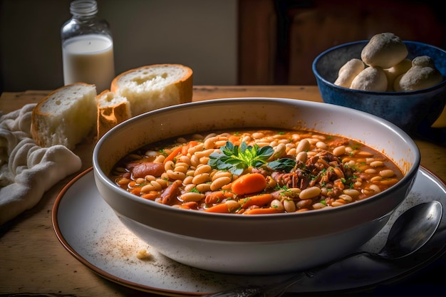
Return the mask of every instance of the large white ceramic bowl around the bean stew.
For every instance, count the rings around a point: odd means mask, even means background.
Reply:
[[[128,152],[150,142],[215,128],[306,127],[351,137],[384,152],[405,173],[388,190],[320,211],[243,216],[177,209],[117,187],[108,174]],[[399,127],[358,110],[281,98],[185,103],[114,127],[93,151],[95,183],[125,226],[161,254],[222,273],[266,274],[308,269],[355,251],[383,228],[410,191],[420,153]]]

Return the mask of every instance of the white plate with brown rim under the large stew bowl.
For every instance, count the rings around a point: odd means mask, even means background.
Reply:
[[[389,224],[362,249],[379,251],[398,215],[415,204],[439,200],[446,205],[445,182],[420,167],[413,189],[398,207]],[[413,257],[403,263],[377,261],[355,256],[306,278],[290,291],[318,293],[365,291],[392,283],[419,271],[446,251],[446,212],[437,234]],[[53,207],[53,228],[59,241],[78,261],[123,286],[167,296],[198,296],[234,286],[280,281],[291,274],[276,276],[237,276],[213,273],[178,264],[142,242],[120,223],[95,187],[91,168],[74,178],[61,191]],[[140,260],[146,250],[150,259]],[[326,252],[321,246],[321,253]]]

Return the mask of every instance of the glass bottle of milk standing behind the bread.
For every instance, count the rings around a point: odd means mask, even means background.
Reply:
[[[71,19],[61,29],[63,83],[90,83],[98,93],[110,89],[115,76],[113,38],[107,21],[99,19],[95,0],[71,1]]]

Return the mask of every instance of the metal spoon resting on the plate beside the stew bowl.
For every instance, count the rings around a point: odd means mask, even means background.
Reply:
[[[229,291],[217,292],[207,297],[279,297],[304,277],[313,277],[318,271],[326,269],[332,264],[359,254],[368,254],[378,259],[396,260],[409,256],[424,246],[435,234],[442,219],[442,204],[438,201],[430,201],[416,205],[405,211],[396,219],[389,231],[388,239],[378,253],[358,251],[348,254],[341,259],[291,276],[291,278],[274,283],[269,286],[244,286]]]

